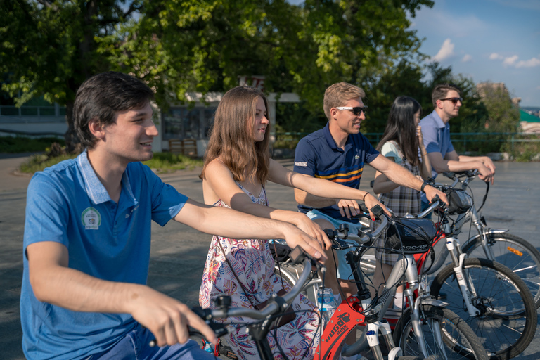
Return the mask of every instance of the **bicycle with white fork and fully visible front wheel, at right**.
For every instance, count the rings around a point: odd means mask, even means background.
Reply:
[[[436,186],[449,192],[448,186]],[[464,196],[463,193],[460,195]],[[465,199],[462,200],[462,203],[466,203]],[[439,201],[434,201],[427,210],[418,214],[418,218],[425,217],[436,208],[439,208],[441,219],[434,243],[440,239],[445,240],[446,247],[439,258],[450,254],[451,264],[435,276],[431,294],[436,298],[444,298],[449,309],[475,330],[491,360],[517,356],[527,348],[536,332],[536,306],[529,288],[518,275],[498,262],[467,258],[467,254],[461,252],[458,239],[454,237],[456,227],[450,224],[446,216],[448,209]],[[428,253],[418,258],[420,267],[425,266],[426,259]],[[436,268],[437,261],[432,262],[431,267]],[[425,272],[432,274],[434,270]]]

